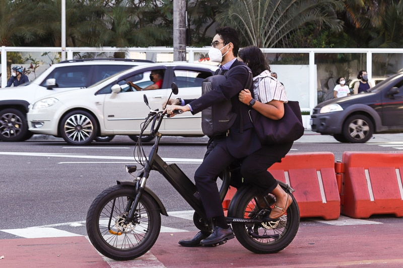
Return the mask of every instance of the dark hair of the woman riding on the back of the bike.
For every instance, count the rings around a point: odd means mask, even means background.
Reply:
[[[252,70],[253,77],[259,75],[262,71],[270,71],[263,52],[257,46],[247,46],[239,50],[239,57]]]

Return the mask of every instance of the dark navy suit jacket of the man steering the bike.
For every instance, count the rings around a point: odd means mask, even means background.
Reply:
[[[244,63],[235,60],[230,69]],[[245,68],[237,68],[227,76],[227,80],[214,88],[214,90],[201,96],[195,100],[185,100],[185,104],[189,104],[193,111],[197,114],[202,110],[210,107],[213,103],[220,103],[225,100],[231,100],[232,110],[237,114],[234,124],[230,128],[230,134],[226,138],[227,147],[232,156],[236,158],[245,157],[261,148],[261,144],[253,130],[252,123],[249,119],[249,106],[238,100],[239,93],[248,88],[253,97],[253,83],[245,85],[248,73]]]

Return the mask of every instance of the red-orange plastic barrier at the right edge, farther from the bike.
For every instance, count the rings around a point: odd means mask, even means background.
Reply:
[[[344,152],[341,213],[403,217],[403,153]]]

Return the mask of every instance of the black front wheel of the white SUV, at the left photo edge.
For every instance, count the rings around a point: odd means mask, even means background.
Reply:
[[[0,140],[24,141],[29,138],[26,114],[13,108],[0,111]]]

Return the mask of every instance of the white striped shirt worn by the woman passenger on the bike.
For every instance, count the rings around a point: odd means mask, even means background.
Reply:
[[[284,85],[271,76],[268,70],[264,70],[253,77],[253,92],[255,100],[261,103],[268,103],[273,100],[288,102]]]

